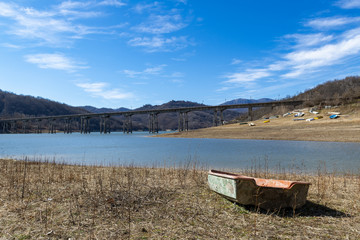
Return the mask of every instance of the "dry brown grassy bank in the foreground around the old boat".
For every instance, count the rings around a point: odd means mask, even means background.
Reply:
[[[245,171],[310,181],[307,204],[233,204],[192,167],[73,166],[0,160],[0,239],[359,239],[360,174]]]

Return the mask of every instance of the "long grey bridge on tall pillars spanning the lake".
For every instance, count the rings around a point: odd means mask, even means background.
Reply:
[[[272,101],[265,103],[248,103],[248,104],[231,104],[231,105],[218,105],[218,106],[196,106],[196,107],[182,107],[182,108],[168,108],[168,109],[152,109],[152,110],[133,110],[124,112],[108,112],[108,113],[86,113],[86,114],[72,114],[72,115],[57,115],[57,116],[42,116],[42,117],[24,117],[24,118],[8,118],[0,119],[0,133],[26,133],[29,125],[34,125],[35,133],[41,133],[40,122],[47,121],[48,132],[56,133],[54,122],[56,120],[63,121],[64,133],[71,133],[73,122],[78,122],[78,131],[82,134],[90,133],[90,119],[100,119],[100,133],[110,133],[109,118],[112,116],[124,116],[123,132],[132,133],[132,116],[137,114],[149,115],[149,132],[159,132],[158,115],[163,113],[178,113],[178,131],[189,130],[188,113],[192,111],[213,111],[213,126],[222,125],[224,123],[223,112],[231,109],[248,109],[248,119],[253,120],[253,108],[259,107],[277,107],[277,106],[293,106],[301,105],[305,100],[283,100]],[[30,124],[32,123],[32,124]],[[18,125],[21,125],[19,128]]]

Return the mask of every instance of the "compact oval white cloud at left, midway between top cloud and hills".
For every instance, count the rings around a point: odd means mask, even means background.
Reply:
[[[74,72],[79,69],[88,68],[82,63],[73,61],[62,54],[33,54],[26,55],[25,60],[29,63],[36,64],[39,68],[64,70]]]

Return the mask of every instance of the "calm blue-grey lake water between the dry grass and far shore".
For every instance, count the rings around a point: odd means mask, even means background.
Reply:
[[[147,133],[0,134],[0,157],[77,164],[360,171],[360,143],[151,138]]]

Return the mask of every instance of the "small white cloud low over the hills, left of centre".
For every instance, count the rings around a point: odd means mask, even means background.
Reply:
[[[101,97],[107,100],[124,100],[134,98],[134,94],[115,88],[109,90],[109,84],[105,82],[77,83],[76,86],[90,93],[93,97]]]

